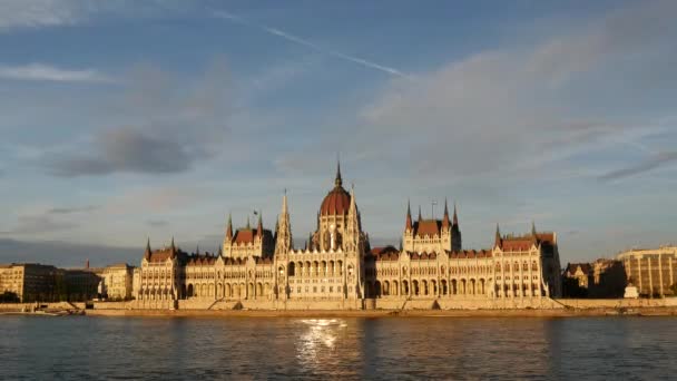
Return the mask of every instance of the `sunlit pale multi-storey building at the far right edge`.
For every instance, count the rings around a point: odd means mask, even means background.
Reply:
[[[677,246],[634,248],[616,258],[622,262],[628,283],[640,296],[675,295]]]

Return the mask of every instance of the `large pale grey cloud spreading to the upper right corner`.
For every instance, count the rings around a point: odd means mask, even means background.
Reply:
[[[387,149],[374,150],[371,141],[425,153],[408,163],[418,176],[533,176],[534,170],[520,170],[526,166],[551,176],[552,156],[581,156],[618,136],[641,137],[646,134],[634,130],[654,128],[647,127],[649,119],[624,124],[612,116],[591,117],[567,98],[575,94],[589,105],[628,101],[629,92],[605,99],[590,92],[614,86],[605,77],[609,65],[625,62],[617,72],[641,74],[651,70],[653,61],[630,57],[660,52],[667,58],[665,48],[677,35],[676,11],[675,2],[625,7],[531,47],[481,51],[416,80],[395,78],[363,109],[369,128],[357,131],[356,146],[364,141],[362,150],[379,157]],[[667,70],[663,75],[674,77]],[[399,159],[398,149],[391,152]]]

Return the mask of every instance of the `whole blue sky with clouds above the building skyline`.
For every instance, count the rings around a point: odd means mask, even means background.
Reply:
[[[0,1],[0,261],[314,227],[336,155],[373,244],[408,199],[562,262],[676,242],[674,1]],[[50,243],[52,253],[46,253]],[[69,257],[72,247],[78,255]],[[49,246],[47,246],[49,247]],[[65,248],[66,247],[66,248]],[[79,263],[79,262],[78,262]]]

